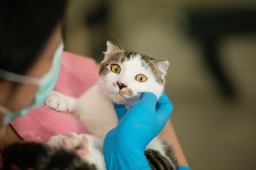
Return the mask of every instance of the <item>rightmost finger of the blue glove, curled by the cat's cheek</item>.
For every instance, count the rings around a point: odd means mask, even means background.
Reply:
[[[173,104],[168,99],[166,94],[162,93],[162,96],[158,101],[157,117],[162,120],[168,120],[173,112]]]

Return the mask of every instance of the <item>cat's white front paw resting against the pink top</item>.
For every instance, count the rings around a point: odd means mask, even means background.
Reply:
[[[65,101],[65,96],[57,91],[51,91],[47,98],[45,99],[44,104],[52,109],[57,110],[58,112],[69,112],[68,105]]]

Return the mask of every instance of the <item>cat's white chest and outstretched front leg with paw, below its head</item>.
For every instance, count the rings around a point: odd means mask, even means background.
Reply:
[[[78,99],[52,91],[45,104],[57,111],[74,114],[86,125],[91,134],[102,140],[107,132],[118,124],[113,103],[100,91],[98,83]],[[59,107],[57,107],[58,105]]]

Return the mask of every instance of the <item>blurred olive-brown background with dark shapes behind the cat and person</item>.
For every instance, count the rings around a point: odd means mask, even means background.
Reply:
[[[256,162],[256,0],[70,0],[65,50],[98,62],[117,34],[170,62],[165,92],[193,170]]]

